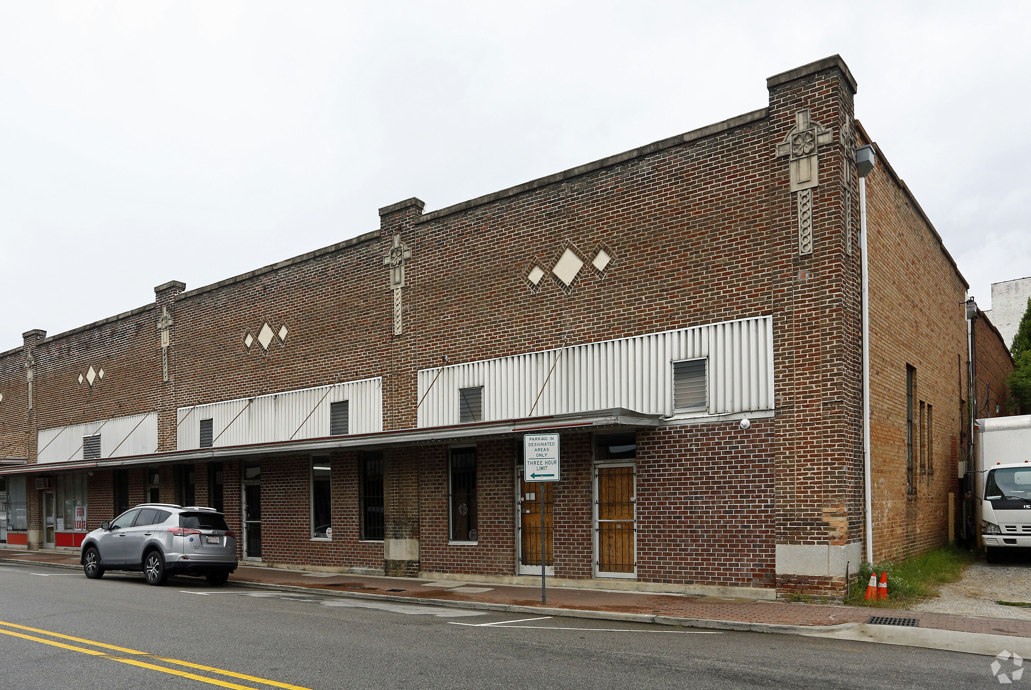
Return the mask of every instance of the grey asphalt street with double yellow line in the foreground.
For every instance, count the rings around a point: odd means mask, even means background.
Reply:
[[[998,686],[970,654],[528,618],[0,564],[0,688]]]

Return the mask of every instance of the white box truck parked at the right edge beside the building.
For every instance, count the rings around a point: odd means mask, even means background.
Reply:
[[[977,420],[974,496],[988,562],[1031,549],[1031,415]]]

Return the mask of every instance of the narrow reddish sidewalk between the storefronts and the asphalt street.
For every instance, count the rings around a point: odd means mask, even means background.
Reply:
[[[26,552],[0,550],[0,560],[40,563],[60,567],[80,567],[78,555],[67,552]],[[192,580],[192,579],[190,579]],[[308,572],[273,567],[241,566],[230,578],[230,584],[274,589],[322,590],[343,596],[411,601],[458,607],[493,611],[553,613],[644,623],[664,623],[692,627],[797,632],[800,634],[832,631],[860,624],[865,637],[884,629],[897,637],[905,630],[896,626],[865,625],[871,616],[917,618],[925,631],[941,630],[975,633],[997,637],[1031,638],[1031,620],[1013,620],[977,616],[911,612],[904,610],[868,609],[832,604],[788,603],[726,599],[714,596],[647,594],[590,589],[548,588],[547,604],[541,606],[539,587],[478,584],[458,581],[431,581],[409,578]],[[853,624],[845,625],[842,624]],[[870,631],[873,632],[870,632]],[[834,634],[840,636],[840,634]],[[926,632],[925,632],[926,636]],[[876,639],[874,639],[876,642]],[[882,640],[887,642],[887,639]],[[989,640],[1001,644],[1001,640]],[[905,644],[905,643],[893,643]],[[1031,644],[1023,640],[1021,645]],[[927,645],[918,645],[927,646]],[[954,645],[955,647],[955,645]],[[945,648],[938,648],[945,649]],[[999,649],[1002,649],[1001,647]],[[960,649],[957,651],[970,651]],[[998,651],[998,650],[997,650]],[[992,652],[995,654],[996,652]]]

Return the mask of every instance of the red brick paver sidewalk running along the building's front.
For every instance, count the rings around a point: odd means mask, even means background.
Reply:
[[[77,554],[0,550],[0,558],[26,562],[78,564]],[[230,578],[236,584],[255,583],[304,587],[313,590],[398,596],[412,599],[468,601],[518,606],[540,606],[540,590],[514,585],[459,581],[380,578],[372,576],[307,573],[271,567],[240,567]],[[456,589],[458,588],[458,589]],[[471,591],[470,591],[471,590]],[[866,606],[788,603],[783,601],[734,602],[717,597],[612,592],[593,589],[548,588],[547,607],[617,614],[644,614],[709,621],[826,626],[865,623],[870,616],[920,619],[920,627],[963,632],[1031,637],[1031,621],[907,612]]]

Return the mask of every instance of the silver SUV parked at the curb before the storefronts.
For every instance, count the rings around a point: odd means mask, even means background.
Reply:
[[[82,539],[79,563],[96,580],[105,570],[142,570],[151,585],[169,574],[205,576],[224,585],[236,569],[236,535],[210,507],[142,503]]]

